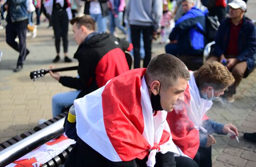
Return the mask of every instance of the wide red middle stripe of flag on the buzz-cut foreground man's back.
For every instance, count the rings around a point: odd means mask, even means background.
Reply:
[[[138,68],[123,73],[112,79],[102,92],[106,132],[123,161],[143,159],[151,148],[141,135],[144,120],[140,87],[145,72],[145,68]]]

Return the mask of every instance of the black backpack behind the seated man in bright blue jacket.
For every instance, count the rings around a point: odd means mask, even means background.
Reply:
[[[205,36],[209,42],[214,40],[219,26],[220,26],[220,22],[217,16],[205,15],[205,27],[206,27]]]

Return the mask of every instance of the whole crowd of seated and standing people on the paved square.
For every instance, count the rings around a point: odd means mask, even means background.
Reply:
[[[37,14],[36,24],[40,25],[40,7],[44,7],[53,26],[54,63],[60,61],[61,39],[64,61],[72,62],[67,57],[69,22],[78,45],[74,53],[79,63],[77,77],[50,71],[63,86],[76,89],[52,98],[54,117],[74,104],[65,120],[65,132],[76,144],[66,167],[211,167],[211,146],[216,143],[212,134],[237,138],[232,123],[210,120],[206,113],[218,97],[234,102],[236,87],[256,67],[256,27],[245,16],[243,0],[201,1],[30,3]],[[7,44],[20,53],[14,72],[22,69],[29,54],[26,34],[33,21],[27,4],[28,0],[3,4]],[[210,42],[209,16],[216,16],[219,23],[215,45],[206,62],[194,66]],[[117,28],[130,42],[116,37]],[[167,44],[166,53],[151,59],[152,41],[158,34],[160,43]],[[125,51],[133,51],[132,70]],[[194,72],[188,69],[191,62]],[[256,141],[256,134],[244,138]]]

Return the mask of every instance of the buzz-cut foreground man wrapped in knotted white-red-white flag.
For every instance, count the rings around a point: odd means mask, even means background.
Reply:
[[[77,142],[65,166],[193,167],[193,160],[179,156],[166,121],[188,80],[181,60],[161,54],[148,68],[123,73],[75,100],[65,132]]]

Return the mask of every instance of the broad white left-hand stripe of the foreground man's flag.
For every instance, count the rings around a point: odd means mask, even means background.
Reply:
[[[112,146],[103,121],[101,94],[105,86],[74,100],[78,136],[95,151],[111,161],[121,161]],[[95,133],[96,132],[96,133]]]

